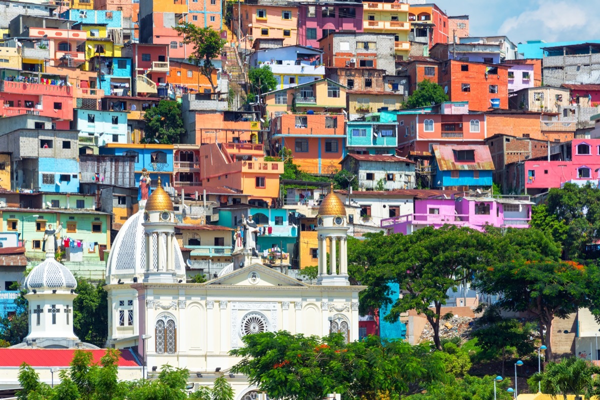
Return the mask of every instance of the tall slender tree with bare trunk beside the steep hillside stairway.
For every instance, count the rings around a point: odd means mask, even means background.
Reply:
[[[221,39],[220,33],[214,29],[209,27],[200,28],[189,22],[179,24],[175,27],[175,31],[179,36],[183,36],[184,44],[193,45],[188,60],[193,62],[200,73],[208,79],[212,92],[217,92],[217,83],[215,83],[212,76],[212,74],[216,74],[217,67],[212,63],[212,60],[221,57],[221,52],[227,41]]]

